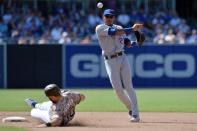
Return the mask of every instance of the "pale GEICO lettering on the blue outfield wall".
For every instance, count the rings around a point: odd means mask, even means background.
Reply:
[[[190,78],[195,74],[195,58],[191,54],[128,55],[132,74],[140,78]],[[181,65],[175,63],[182,63]],[[146,68],[149,63],[151,69]],[[183,66],[180,67],[179,66]],[[71,75],[76,78],[107,77],[103,57],[96,54],[75,54],[70,59]]]

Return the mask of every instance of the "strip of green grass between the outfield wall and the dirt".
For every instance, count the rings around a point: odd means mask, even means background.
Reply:
[[[77,89],[87,97],[77,111],[127,111],[112,89]],[[197,89],[137,89],[140,111],[197,112]],[[43,90],[0,90],[0,111],[29,111],[25,98],[46,101]]]

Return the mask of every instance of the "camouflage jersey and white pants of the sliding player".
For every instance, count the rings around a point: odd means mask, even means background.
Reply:
[[[45,123],[65,126],[75,115],[75,106],[80,103],[80,94],[66,91],[61,94],[63,97],[58,103],[51,101],[36,104],[31,110],[31,116],[42,120]]]

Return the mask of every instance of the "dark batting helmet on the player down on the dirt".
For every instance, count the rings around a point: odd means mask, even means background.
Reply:
[[[60,88],[56,84],[49,84],[44,88],[46,96],[60,96]]]

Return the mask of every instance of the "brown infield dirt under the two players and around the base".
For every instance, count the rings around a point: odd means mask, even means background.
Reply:
[[[6,122],[2,118],[22,116],[28,122]],[[0,112],[0,125],[29,131],[197,131],[197,113],[141,113],[139,123],[131,123],[126,112],[78,112],[67,127],[36,128],[39,121],[28,112]]]

